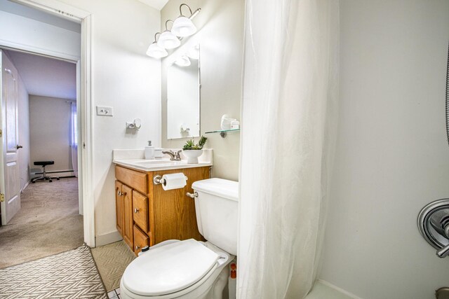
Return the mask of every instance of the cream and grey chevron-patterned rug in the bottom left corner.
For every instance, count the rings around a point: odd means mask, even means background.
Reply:
[[[0,270],[2,299],[107,299],[88,246]]]

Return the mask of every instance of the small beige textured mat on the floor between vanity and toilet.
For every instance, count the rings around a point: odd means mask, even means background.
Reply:
[[[93,248],[92,256],[108,292],[120,286],[123,272],[135,258],[124,241]]]

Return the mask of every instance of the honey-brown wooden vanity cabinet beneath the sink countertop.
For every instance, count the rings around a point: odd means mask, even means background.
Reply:
[[[117,230],[137,255],[143,246],[153,246],[168,239],[204,241],[196,223],[192,183],[209,178],[210,167],[143,172],[116,165]],[[163,190],[153,177],[182,172],[187,186]]]

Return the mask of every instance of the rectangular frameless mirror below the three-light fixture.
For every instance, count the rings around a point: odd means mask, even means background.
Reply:
[[[199,45],[167,70],[167,138],[199,137]]]

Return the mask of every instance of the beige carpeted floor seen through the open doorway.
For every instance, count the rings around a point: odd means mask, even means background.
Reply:
[[[21,204],[10,223],[0,227],[0,268],[83,244],[76,178],[31,183],[21,195]]]

